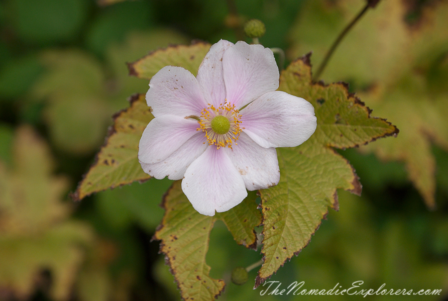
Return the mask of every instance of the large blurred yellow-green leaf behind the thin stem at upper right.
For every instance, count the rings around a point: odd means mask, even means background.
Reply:
[[[363,5],[355,0],[307,1],[292,30],[290,57],[313,51],[320,62]],[[360,151],[374,152],[382,160],[404,161],[409,179],[426,204],[434,207],[436,165],[431,144],[448,150],[443,67],[447,64],[448,3],[418,6],[420,16],[411,22],[410,2],[380,1],[347,34],[322,78],[349,81],[376,114],[394,121],[401,130],[397,139]]]

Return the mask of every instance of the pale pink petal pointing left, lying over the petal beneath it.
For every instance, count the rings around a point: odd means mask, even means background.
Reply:
[[[138,160],[153,164],[162,161],[197,133],[198,122],[175,115],[162,115],[146,126],[138,145]]]

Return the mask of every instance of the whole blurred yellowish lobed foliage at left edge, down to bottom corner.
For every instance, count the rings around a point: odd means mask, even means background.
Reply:
[[[47,269],[52,298],[68,300],[92,231],[67,220],[70,207],[61,195],[68,183],[52,175],[48,147],[30,127],[16,130],[11,157],[8,166],[0,162],[0,290],[26,300]]]

